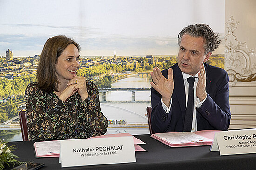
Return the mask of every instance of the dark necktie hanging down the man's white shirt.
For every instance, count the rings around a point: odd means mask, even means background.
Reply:
[[[185,121],[184,121],[184,129],[183,132],[190,132],[192,128],[192,119],[193,119],[193,111],[194,111],[194,82],[195,77],[187,78],[189,83],[189,95],[188,102],[186,107]]]

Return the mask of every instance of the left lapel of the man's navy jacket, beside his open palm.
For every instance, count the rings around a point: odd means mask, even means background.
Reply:
[[[182,118],[185,119],[185,105],[186,105],[186,96],[185,96],[185,86],[184,86],[184,80],[183,75],[178,67],[178,64],[176,64],[176,67],[173,69],[173,78],[174,78],[174,94],[175,97],[173,98],[173,102],[178,101],[181,112],[182,112]]]

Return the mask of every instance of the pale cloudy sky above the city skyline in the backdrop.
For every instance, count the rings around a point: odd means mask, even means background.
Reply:
[[[224,0],[0,0],[0,56],[40,54],[66,35],[81,56],[173,55],[187,25],[206,23],[224,35]],[[224,53],[223,45],[216,53]]]

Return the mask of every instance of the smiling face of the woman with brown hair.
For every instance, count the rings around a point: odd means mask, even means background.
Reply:
[[[65,48],[61,55],[57,59],[56,75],[59,82],[67,83],[75,75],[79,63],[79,52],[74,44],[70,44]]]

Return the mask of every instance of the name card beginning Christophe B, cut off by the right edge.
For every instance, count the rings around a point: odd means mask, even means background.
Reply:
[[[210,151],[220,151],[220,155],[256,153],[256,130],[216,132]]]

